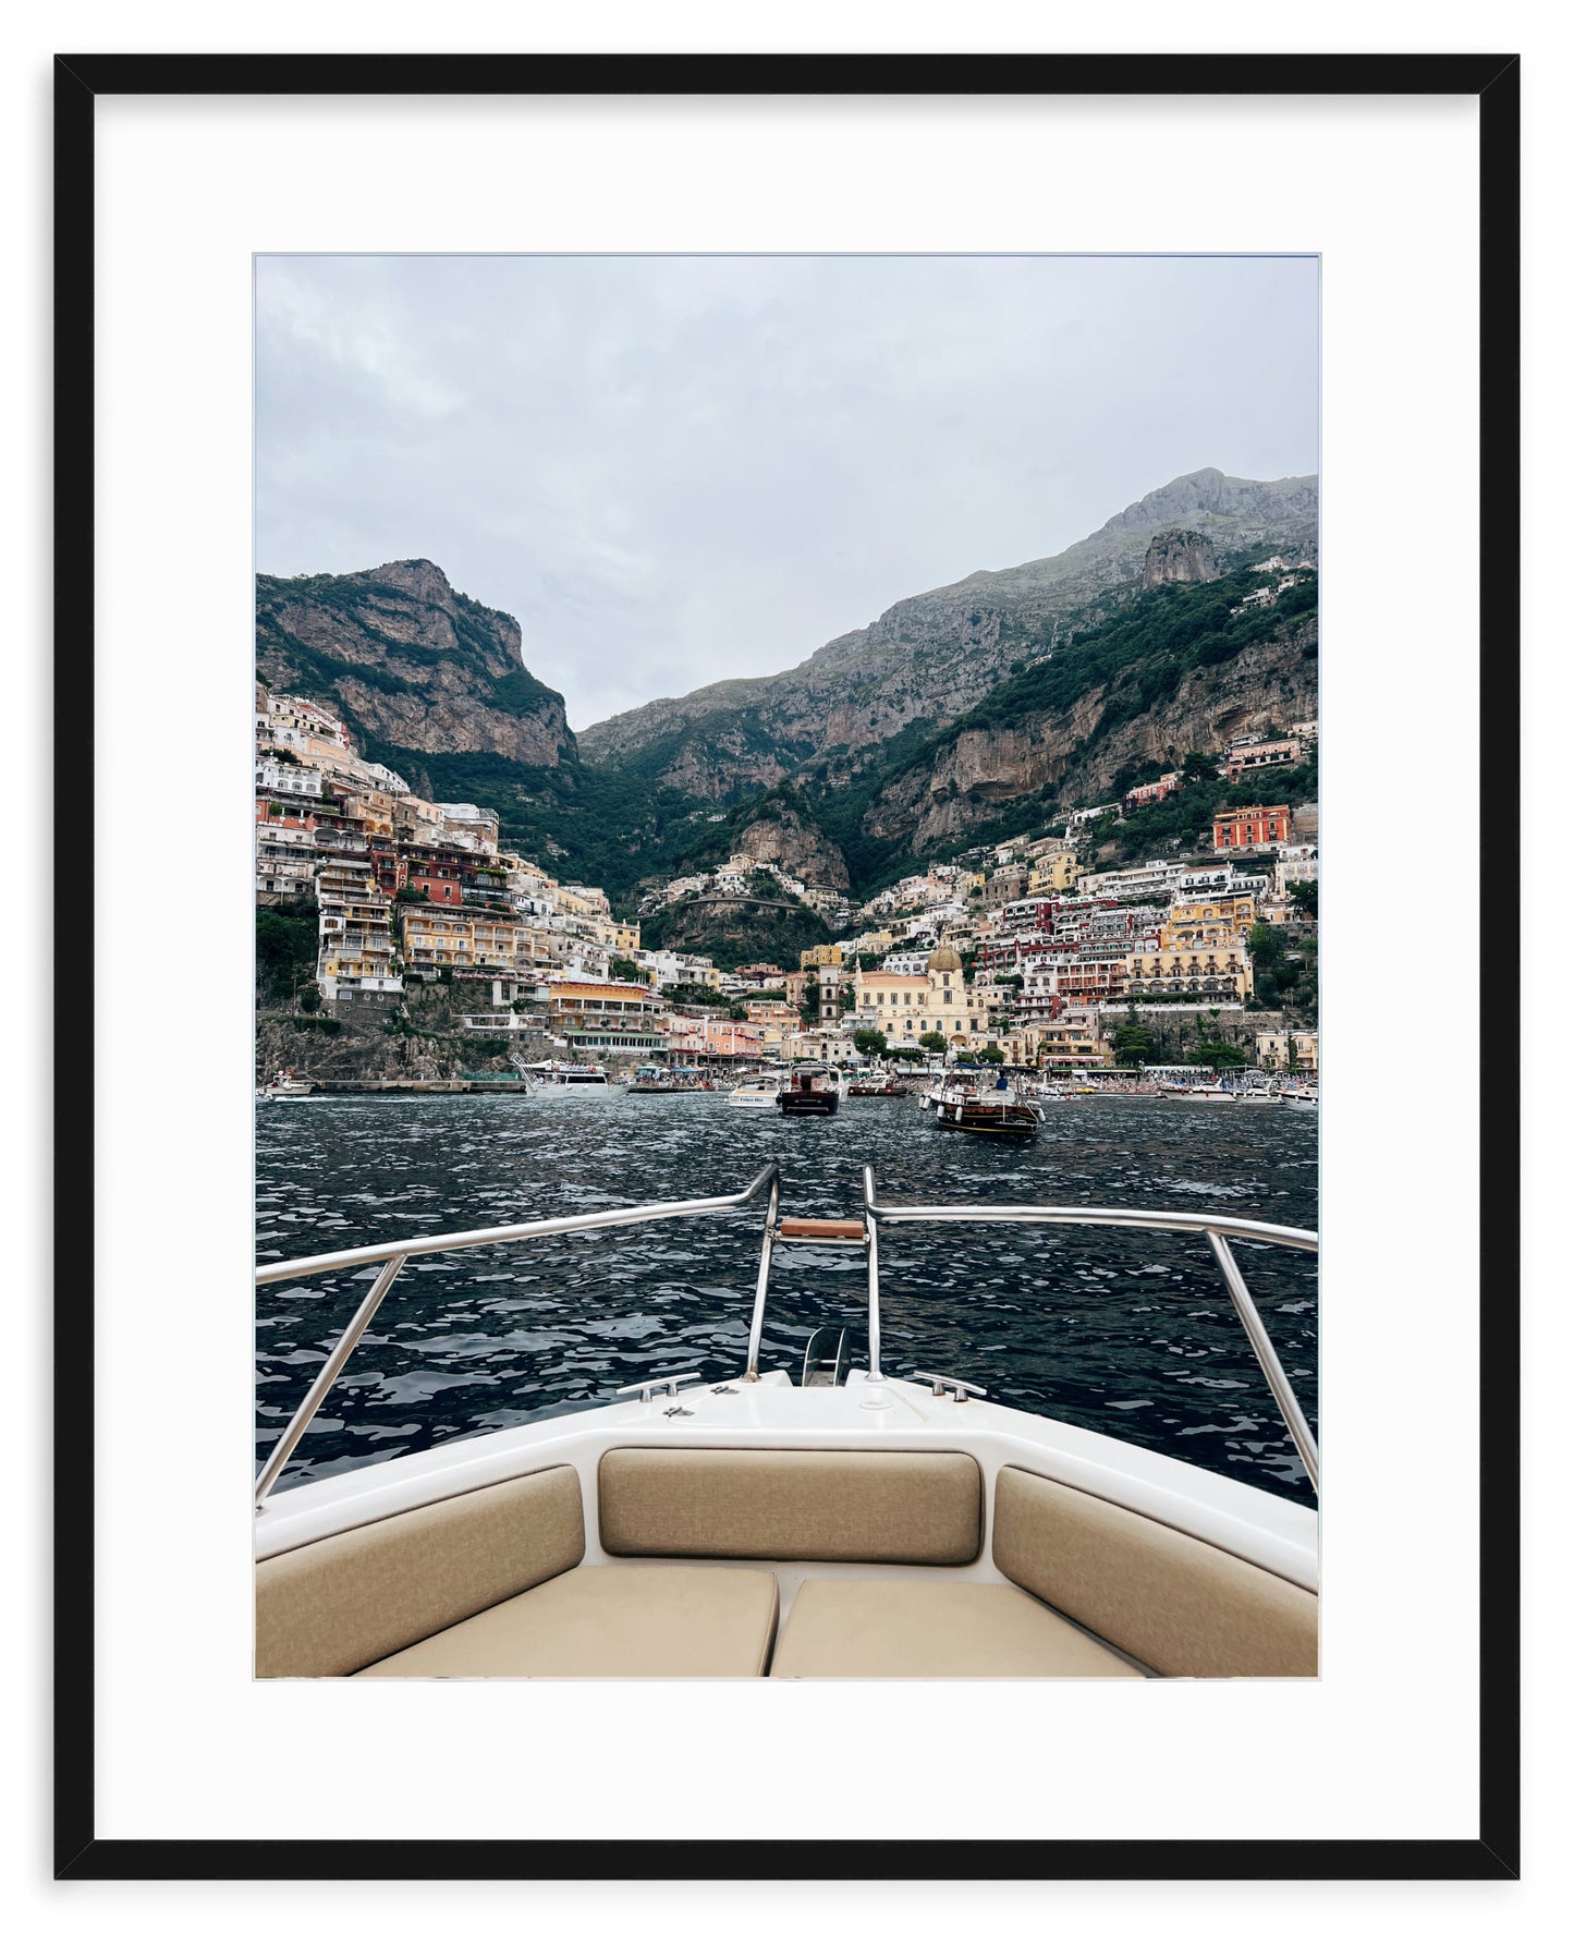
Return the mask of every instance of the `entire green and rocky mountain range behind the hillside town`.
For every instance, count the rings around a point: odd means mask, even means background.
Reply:
[[[1305,718],[1315,574],[1274,605],[1245,600],[1267,584],[1251,563],[1311,557],[1315,540],[1315,478],[1199,470],[1058,557],[903,600],[793,671],[659,700],[578,743],[524,667],[516,621],[427,559],[259,578],[257,669],[321,698],[427,797],[495,808],[505,839],[621,907],[729,853],[862,895],[913,857],[1042,826],[1187,750]],[[681,903],[669,924],[685,946],[715,928],[741,959],[820,928],[764,903]]]

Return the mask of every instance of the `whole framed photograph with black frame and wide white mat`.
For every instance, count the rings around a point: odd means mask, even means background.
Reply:
[[[60,1876],[1512,1878],[1514,56],[62,56],[56,236]]]

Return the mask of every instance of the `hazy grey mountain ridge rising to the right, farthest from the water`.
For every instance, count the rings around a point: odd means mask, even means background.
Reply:
[[[1149,545],[1174,532],[1151,567]],[[1098,623],[1154,582],[1207,582],[1265,547],[1311,553],[1317,478],[1253,482],[1195,470],[1151,491],[1093,536],[1009,571],[891,605],[768,679],[727,679],[580,733],[588,766],[615,766],[698,799],[777,785],[806,760],[859,754],[915,725],[957,718],[1011,667]]]

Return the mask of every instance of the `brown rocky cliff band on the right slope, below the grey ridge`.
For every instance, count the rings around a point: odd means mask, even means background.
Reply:
[[[913,853],[963,839],[1007,803],[1046,785],[1060,797],[1108,797],[1114,776],[1135,762],[1172,764],[1187,752],[1216,752],[1245,731],[1288,725],[1317,708],[1317,619],[1286,625],[1216,667],[1199,667],[1139,718],[1096,731],[1110,696],[1087,692],[1065,714],[1031,714],[1009,725],[959,731],[932,758],[884,787],[864,828]]]

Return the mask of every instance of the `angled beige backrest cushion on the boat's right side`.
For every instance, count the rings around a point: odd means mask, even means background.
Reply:
[[[1317,1594],[1170,1524],[1007,1466],[994,1563],[1156,1673],[1317,1677]]]

